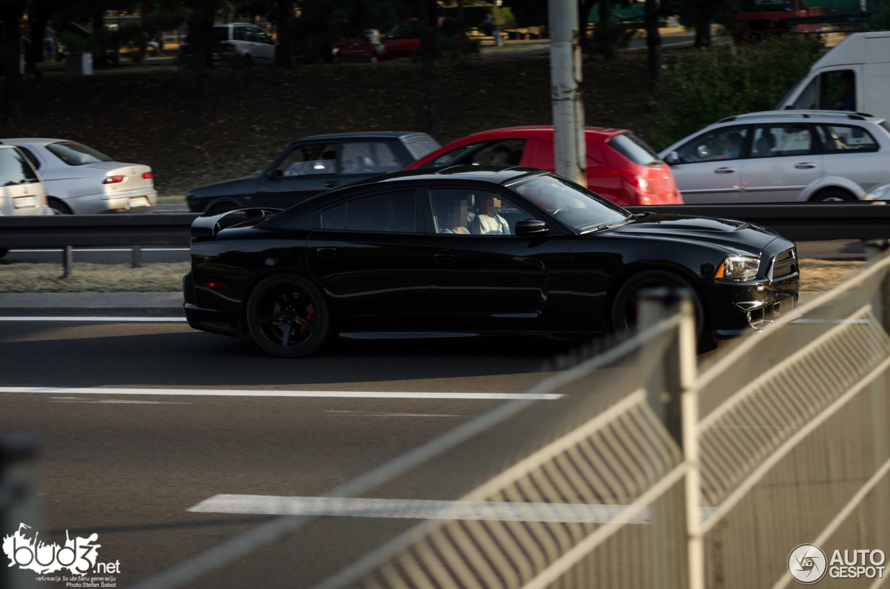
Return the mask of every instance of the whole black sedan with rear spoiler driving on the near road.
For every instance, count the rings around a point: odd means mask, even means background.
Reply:
[[[688,288],[701,338],[740,335],[799,291],[795,245],[771,230],[631,214],[516,166],[389,173],[286,211],[204,215],[191,260],[190,326],[281,357],[347,332],[624,330],[649,286]]]

